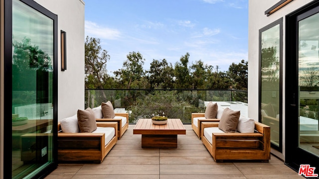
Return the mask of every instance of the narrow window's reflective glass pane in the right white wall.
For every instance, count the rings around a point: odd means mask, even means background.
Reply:
[[[280,24],[261,32],[261,121],[280,146]]]

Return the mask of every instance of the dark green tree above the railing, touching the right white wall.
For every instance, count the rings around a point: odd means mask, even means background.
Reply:
[[[241,63],[232,63],[229,66],[227,75],[234,82],[234,89],[248,89],[248,62],[242,60]]]

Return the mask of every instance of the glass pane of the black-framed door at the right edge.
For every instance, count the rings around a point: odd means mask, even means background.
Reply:
[[[319,156],[319,13],[298,26],[299,147]]]

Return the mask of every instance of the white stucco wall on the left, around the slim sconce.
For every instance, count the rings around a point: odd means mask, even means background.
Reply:
[[[58,15],[58,120],[84,109],[84,1],[35,0]],[[60,31],[66,32],[67,70],[61,71]]]

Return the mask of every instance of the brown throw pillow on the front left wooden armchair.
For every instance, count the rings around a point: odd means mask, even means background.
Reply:
[[[93,110],[88,107],[85,110],[78,110],[78,124],[80,132],[93,132],[97,129]]]

